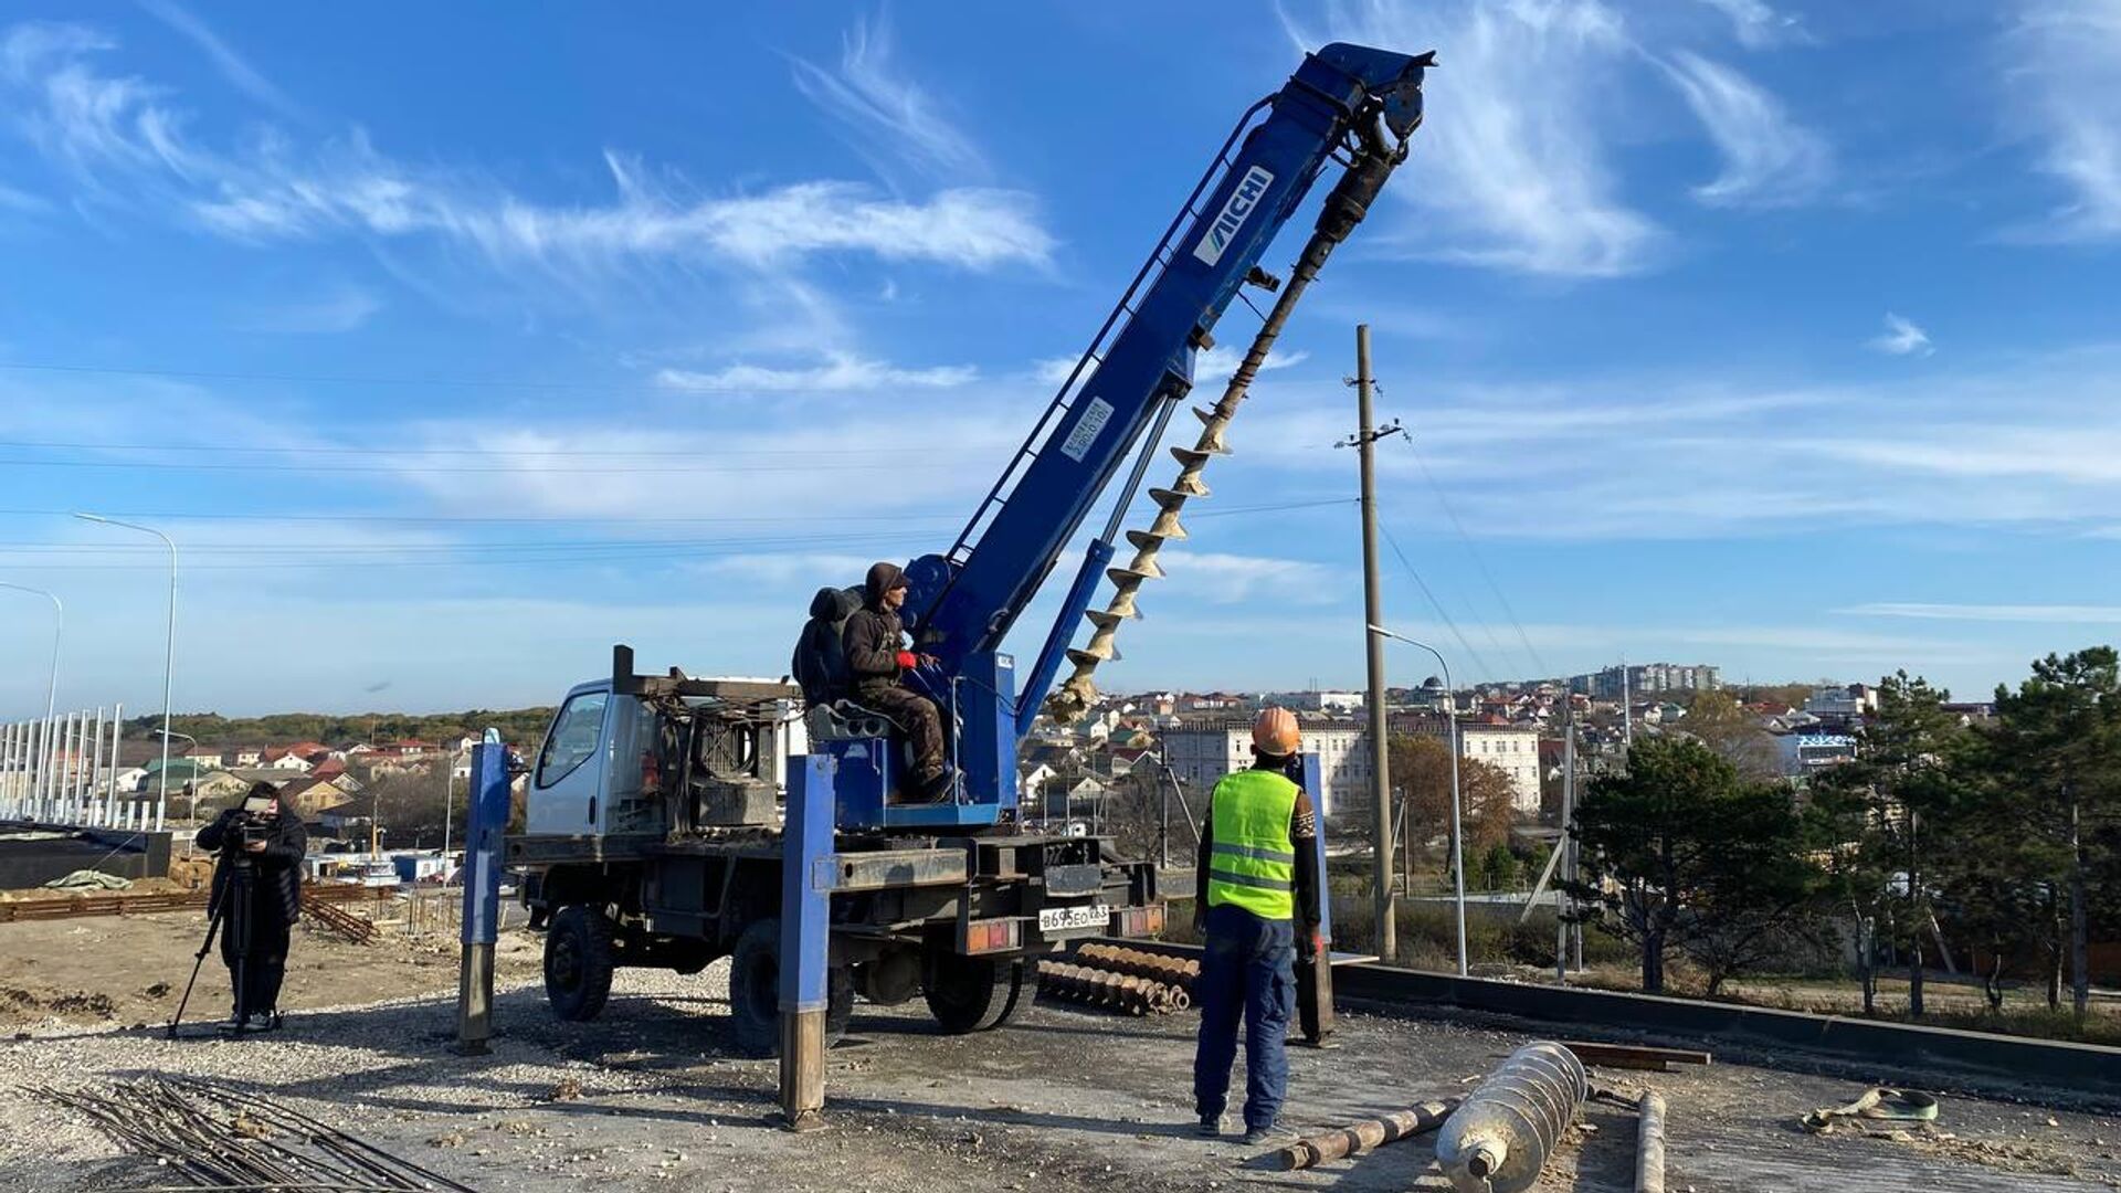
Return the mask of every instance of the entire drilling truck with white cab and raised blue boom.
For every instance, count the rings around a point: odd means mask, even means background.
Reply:
[[[793,989],[781,959],[802,949],[823,957],[823,989],[800,998],[819,1004],[827,1040],[857,993],[925,998],[946,1032],[978,1032],[1016,1010],[1027,962],[1082,936],[1162,932],[1147,862],[1024,824],[1016,747],[1039,711],[1067,724],[1097,703],[1092,673],[1137,616],[1141,584],[1162,575],[1160,548],[1186,535],[1181,507],[1207,497],[1203,469],[1226,454],[1268,348],[1406,159],[1432,64],[1328,45],[1254,104],[957,541],[906,567],[901,618],[921,664],[904,684],[942,713],[942,798],[914,796],[904,726],[846,690],[638,675],[621,645],[609,677],[568,692],[528,760],[524,830],[507,841],[545,930],[554,1013],[596,1017],[621,966],[698,972],[730,957],[734,1044],[770,1055]],[[1338,178],[1277,278],[1260,261],[1328,166]],[[1273,306],[1222,397],[1194,408],[1198,435],[1169,448],[1175,478],[1145,490],[1154,520],[1122,535],[1194,359],[1245,287]],[[1010,630],[1107,495],[1109,522],[1018,675]],[[825,590],[812,613],[831,605]],[[814,923],[793,930],[800,904]]]

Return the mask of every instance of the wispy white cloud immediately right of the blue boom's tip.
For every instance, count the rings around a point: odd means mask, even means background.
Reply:
[[[1561,278],[1657,261],[1665,234],[1627,206],[1608,161],[1612,91],[1637,62],[1620,13],[1597,0],[1351,0],[1328,23],[1321,40],[1449,51],[1449,85],[1427,93],[1417,134],[1421,185],[1391,189],[1421,210],[1398,229],[1404,250]]]

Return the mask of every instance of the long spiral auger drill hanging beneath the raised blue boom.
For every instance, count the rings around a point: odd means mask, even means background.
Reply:
[[[1222,401],[1211,408],[1194,408],[1194,416],[1200,420],[1200,437],[1194,439],[1190,448],[1171,448],[1171,456],[1179,463],[1179,476],[1169,488],[1150,490],[1150,499],[1156,503],[1156,520],[1150,522],[1150,529],[1126,533],[1126,541],[1135,548],[1135,558],[1124,567],[1105,569],[1114,588],[1111,601],[1103,609],[1090,609],[1084,613],[1094,626],[1090,641],[1067,652],[1075,671],[1071,671],[1054,694],[1046,698],[1046,715],[1050,715],[1056,724],[1073,724],[1075,717],[1097,705],[1097,684],[1092,681],[1097,664],[1107,658],[1118,658],[1114,637],[1120,633],[1120,622],[1141,616],[1135,605],[1135,594],[1145,582],[1164,575],[1164,571],[1156,565],[1156,556],[1162,552],[1162,546],[1171,539],[1186,537],[1186,526],[1179,524],[1179,509],[1186,507],[1186,501],[1209,495],[1207,482],[1200,480],[1200,471],[1207,467],[1209,459],[1230,454],[1230,444],[1224,433],[1228,431],[1230,420],[1237,418],[1237,408],[1243,405],[1245,397],[1251,393],[1251,382],[1260,376],[1260,367],[1266,365],[1266,355],[1275,346],[1275,340],[1281,338],[1281,329],[1287,325],[1290,312],[1296,310],[1296,301],[1326,265],[1326,257],[1330,257],[1332,250],[1347,240],[1347,234],[1362,223],[1364,214],[1368,214],[1370,202],[1377,200],[1385,178],[1389,178],[1400,161],[1406,159],[1408,144],[1410,140],[1389,144],[1377,127],[1366,127],[1357,134],[1353,161],[1347,172],[1340,174],[1340,183],[1334,185],[1332,193],[1326,195],[1326,208],[1319,212],[1311,240],[1304,242],[1304,250],[1296,259],[1296,267],[1290,272],[1290,280],[1281,289],[1281,297],[1275,299],[1275,308],[1266,314],[1266,323],[1262,323],[1260,331],[1251,338],[1251,348],[1245,350],[1243,363],[1239,363],[1237,371],[1230,374],[1230,384],[1224,386]]]

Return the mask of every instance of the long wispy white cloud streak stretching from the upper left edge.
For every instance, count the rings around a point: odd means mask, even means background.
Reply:
[[[829,253],[995,270],[1044,265],[1054,246],[1029,195],[980,187],[899,200],[806,180],[702,195],[607,153],[613,197],[551,204],[464,172],[399,163],[358,129],[310,149],[265,138],[216,153],[187,136],[165,89],[98,72],[98,55],[112,49],[81,25],[11,28],[0,70],[19,102],[17,127],[98,191],[172,206],[231,240],[435,238],[492,261],[562,272],[643,261],[770,270]]]

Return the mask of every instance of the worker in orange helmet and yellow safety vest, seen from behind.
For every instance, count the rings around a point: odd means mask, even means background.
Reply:
[[[1296,713],[1266,709],[1251,726],[1249,771],[1215,783],[1194,868],[1194,930],[1207,943],[1194,1000],[1194,1112],[1200,1134],[1222,1134],[1230,1104],[1237,1023],[1245,1023],[1245,1142],[1273,1138],[1287,1095],[1283,1038],[1296,1004],[1298,943],[1319,947],[1317,813],[1290,781],[1300,749]]]

